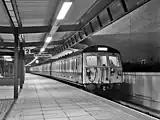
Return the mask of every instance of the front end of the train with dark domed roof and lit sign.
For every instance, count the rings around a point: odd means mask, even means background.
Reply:
[[[83,53],[83,84],[87,89],[118,89],[122,82],[121,56],[117,50],[94,46]]]

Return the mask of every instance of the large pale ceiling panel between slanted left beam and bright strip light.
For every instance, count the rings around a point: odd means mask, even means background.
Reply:
[[[17,0],[23,26],[48,25],[57,4],[58,0]]]

